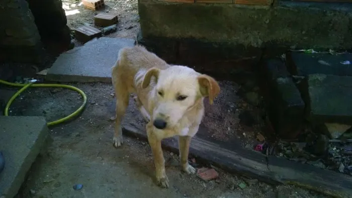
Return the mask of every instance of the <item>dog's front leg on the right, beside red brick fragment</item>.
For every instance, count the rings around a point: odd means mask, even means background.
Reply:
[[[179,151],[182,170],[187,174],[194,174],[196,173],[196,169],[188,163],[190,144],[191,136],[179,136]]]

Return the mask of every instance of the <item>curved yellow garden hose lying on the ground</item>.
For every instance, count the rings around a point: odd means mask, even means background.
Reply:
[[[33,84],[34,82],[36,82],[36,80],[31,80],[30,83],[28,83],[28,84],[20,84],[20,83],[7,82],[5,80],[1,80],[0,79],[0,83],[2,83],[2,84],[6,84],[6,85],[10,85],[10,86],[22,87],[20,90],[18,90],[10,98],[9,102],[6,104],[5,113],[4,113],[5,116],[9,116],[10,106],[11,106],[12,102],[14,102],[15,98],[17,96],[19,96],[24,90],[26,90],[30,86],[32,86],[32,87],[62,87],[62,88],[68,88],[68,89],[77,91],[83,97],[83,104],[75,112],[73,112],[72,114],[66,116],[65,118],[61,118],[59,120],[47,123],[48,126],[53,126],[53,125],[57,125],[57,124],[63,123],[65,121],[77,116],[78,114],[80,114],[83,111],[83,109],[84,109],[84,107],[85,107],[85,105],[87,103],[87,96],[85,95],[85,93],[82,90],[80,90],[77,87],[66,85],[66,84]]]

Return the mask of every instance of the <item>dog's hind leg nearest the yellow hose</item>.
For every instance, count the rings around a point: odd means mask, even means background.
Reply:
[[[116,117],[113,144],[115,147],[119,147],[123,144],[121,121],[128,107],[129,92],[128,88],[124,87],[124,83],[117,82],[117,80],[114,81],[116,95]]]

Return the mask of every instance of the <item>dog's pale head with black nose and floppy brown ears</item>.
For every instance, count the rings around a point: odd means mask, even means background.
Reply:
[[[158,129],[172,128],[185,113],[203,97],[213,104],[220,92],[219,84],[208,75],[200,74],[186,66],[171,66],[167,69],[149,69],[142,82],[146,88],[151,77],[155,77],[152,96],[155,99],[152,122]]]

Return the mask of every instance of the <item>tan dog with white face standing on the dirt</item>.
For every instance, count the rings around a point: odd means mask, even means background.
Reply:
[[[134,98],[148,122],[146,131],[154,156],[156,179],[168,187],[161,140],[179,136],[180,161],[183,170],[195,173],[188,163],[191,138],[196,135],[204,115],[203,98],[213,104],[220,87],[214,78],[179,65],[168,65],[144,47],[125,47],[120,50],[112,68],[112,82],[116,93],[116,121],[114,146],[123,143],[121,120],[129,102]]]

